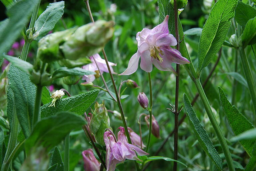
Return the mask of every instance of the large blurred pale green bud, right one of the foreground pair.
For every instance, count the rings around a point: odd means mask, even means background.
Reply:
[[[98,53],[113,36],[113,21],[99,20],[79,27],[60,48],[65,58],[76,60]]]

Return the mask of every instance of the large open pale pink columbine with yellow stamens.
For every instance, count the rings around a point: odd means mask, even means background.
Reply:
[[[140,68],[146,72],[152,71],[152,64],[161,71],[176,71],[172,67],[172,63],[186,64],[190,63],[181,53],[170,47],[177,44],[172,34],[169,34],[167,15],[164,21],[153,29],[143,29],[136,35],[138,42],[138,50],[131,57],[127,69],[119,75],[130,75],[138,68],[139,59]]]

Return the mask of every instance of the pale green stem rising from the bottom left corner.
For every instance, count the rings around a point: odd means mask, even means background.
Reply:
[[[8,147],[5,153],[4,162],[3,162],[1,171],[9,170],[11,160],[8,160],[8,159],[10,158],[11,153],[13,152],[16,146],[18,130],[19,130],[19,120],[17,118],[16,112],[14,112],[12,116],[12,128],[11,128],[11,133],[9,137]]]

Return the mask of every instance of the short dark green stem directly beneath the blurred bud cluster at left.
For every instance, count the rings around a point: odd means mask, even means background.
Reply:
[[[34,127],[35,124],[37,123],[37,121],[40,119],[40,107],[41,107],[42,90],[43,90],[43,86],[37,85],[35,110],[34,110],[34,115],[33,115],[32,127]]]

